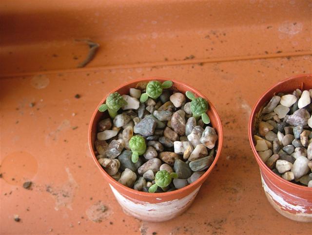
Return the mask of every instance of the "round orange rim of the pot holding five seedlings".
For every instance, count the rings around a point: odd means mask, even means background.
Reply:
[[[117,180],[115,180],[114,178],[112,178],[112,176],[108,175],[104,169],[100,166],[100,164],[98,163],[98,160],[94,154],[94,151],[93,151],[93,143],[92,143],[92,137],[91,137],[91,131],[92,131],[92,124],[94,122],[94,119],[97,115],[97,113],[99,112],[98,111],[98,107],[99,105],[103,104],[103,102],[106,100],[107,96],[113,92],[116,92],[117,90],[121,89],[122,87],[124,86],[128,86],[132,83],[138,83],[138,82],[142,82],[142,81],[151,81],[151,80],[171,80],[174,84],[177,83],[177,84],[181,84],[183,85],[186,89],[191,89],[191,90],[194,90],[195,91],[195,95],[198,96],[198,97],[202,97],[202,98],[205,98],[209,104],[209,108],[215,113],[215,120],[216,120],[216,123],[219,125],[219,131],[218,131],[218,146],[217,146],[217,153],[215,155],[215,159],[213,161],[213,163],[211,164],[211,166],[206,170],[206,172],[200,176],[200,178],[198,178],[195,182],[187,185],[186,187],[183,187],[181,189],[177,189],[175,191],[172,191],[172,192],[164,192],[164,193],[146,193],[146,192],[141,192],[141,191],[137,191],[137,190],[134,190],[134,189],[131,189],[131,188],[128,188],[124,185],[122,185],[121,183],[119,183]],[[134,80],[130,80],[126,83],[123,83],[122,85],[118,86],[117,88],[111,90],[110,92],[108,92],[104,98],[99,102],[96,110],[94,111],[92,117],[91,117],[91,120],[90,120],[90,123],[89,123],[89,128],[88,128],[88,144],[89,144],[89,150],[91,151],[91,154],[92,154],[92,158],[93,160],[95,161],[96,165],[98,166],[100,172],[104,175],[105,179],[108,181],[108,183],[112,184],[112,186],[114,187],[114,184],[117,184],[118,187],[121,187],[123,188],[125,191],[127,191],[128,193],[131,193],[131,194],[137,194],[137,195],[141,195],[141,196],[147,196],[147,197],[161,197],[161,196],[172,196],[172,195],[176,195],[176,194],[179,194],[181,193],[182,191],[184,190],[188,190],[189,188],[191,187],[194,187],[195,189],[200,187],[200,185],[204,182],[204,180],[208,177],[208,175],[212,172],[212,170],[214,169],[215,167],[215,164],[217,162],[217,160],[219,159],[220,157],[220,154],[221,154],[221,150],[222,150],[222,143],[223,143],[223,128],[222,128],[222,123],[221,123],[221,120],[220,120],[220,117],[215,109],[215,106],[210,102],[210,100],[208,98],[206,98],[201,92],[199,92],[197,89],[193,88],[192,86],[182,82],[182,81],[178,81],[178,80],[175,80],[175,79],[171,79],[171,78],[162,78],[162,77],[148,77],[148,78],[137,78],[137,79],[134,79]],[[115,188],[115,187],[114,187]]]

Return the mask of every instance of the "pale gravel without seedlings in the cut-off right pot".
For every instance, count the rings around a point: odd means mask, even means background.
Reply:
[[[278,176],[312,187],[312,89],[279,93],[260,111],[255,149]]]

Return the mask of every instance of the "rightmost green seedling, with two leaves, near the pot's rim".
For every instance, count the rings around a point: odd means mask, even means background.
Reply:
[[[208,102],[207,100],[198,97],[195,98],[195,95],[193,94],[193,92],[187,91],[185,93],[186,97],[191,99],[191,111],[193,113],[193,117],[195,117],[196,119],[198,119],[199,117],[201,117],[201,119],[203,120],[203,122],[205,124],[209,124],[210,123],[210,118],[207,115],[207,110],[208,110]]]

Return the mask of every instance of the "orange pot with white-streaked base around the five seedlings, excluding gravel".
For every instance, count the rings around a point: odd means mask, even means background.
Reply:
[[[90,122],[89,126],[89,147],[93,156],[93,159],[98,166],[98,169],[103,174],[104,178],[108,181],[117,201],[123,208],[124,212],[130,215],[133,215],[139,219],[145,221],[165,221],[176,217],[177,215],[182,214],[193,202],[195,196],[197,195],[202,183],[207,179],[209,174],[215,167],[215,164],[220,156],[223,133],[220,118],[215,110],[215,107],[212,105],[209,100],[204,97],[200,92],[190,87],[189,85],[176,81],[169,78],[142,78],[130,81],[114,90],[113,92],[119,92],[120,94],[128,94],[129,88],[136,87],[138,82],[150,81],[150,80],[172,80],[173,81],[173,89],[177,89],[178,91],[185,93],[186,91],[192,91],[196,96],[205,98],[209,103],[209,110],[207,114],[211,119],[211,124],[215,128],[218,134],[218,142],[217,142],[217,152],[215,156],[215,160],[210,166],[210,168],[205,172],[203,176],[201,176],[194,183],[178,189],[176,191],[167,192],[167,193],[145,193],[139,192],[134,189],[130,189],[120,183],[118,183],[115,179],[109,176],[103,168],[98,163],[98,160],[94,154],[94,142],[97,136],[97,124],[98,121],[103,118],[103,115],[107,115],[107,112],[100,113],[98,112],[98,106],[102,104],[106,97],[101,100],[99,105],[97,106]]]

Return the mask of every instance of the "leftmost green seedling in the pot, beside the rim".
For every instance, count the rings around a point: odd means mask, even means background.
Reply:
[[[108,110],[109,116],[112,118],[117,116],[118,110],[127,104],[127,101],[122,98],[118,92],[109,94],[106,99],[106,103],[98,107],[99,112],[105,112]]]

